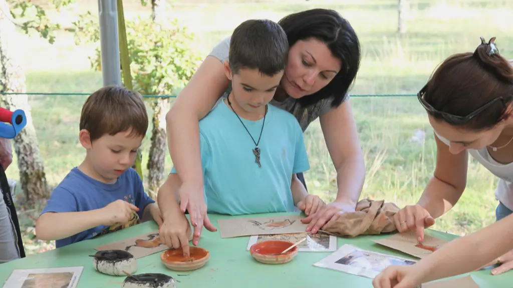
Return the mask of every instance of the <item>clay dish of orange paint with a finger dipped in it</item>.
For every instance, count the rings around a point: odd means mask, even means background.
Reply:
[[[202,268],[210,258],[208,250],[190,246],[189,258],[184,257],[182,248],[168,249],[161,254],[161,261],[168,269],[174,271],[191,271]]]

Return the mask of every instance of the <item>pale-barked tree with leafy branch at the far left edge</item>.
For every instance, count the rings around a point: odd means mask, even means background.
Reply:
[[[68,5],[69,2],[59,2],[56,6]],[[11,9],[12,7],[12,9]],[[25,18],[24,22],[16,21],[18,17]],[[19,93],[3,95],[1,102],[9,110],[22,109],[27,116],[27,125],[15,138],[14,150],[17,156],[19,180],[26,198],[26,205],[32,207],[49,198],[50,190],[47,185],[43,160],[39,151],[37,136],[32,123],[30,105],[28,102],[25,71],[21,65],[19,49],[16,48],[17,37],[15,27],[21,27],[26,33],[36,30],[50,43],[55,37],[51,33],[59,29],[52,26],[46,17],[45,10],[30,1],[8,3],[0,0],[0,92]]]

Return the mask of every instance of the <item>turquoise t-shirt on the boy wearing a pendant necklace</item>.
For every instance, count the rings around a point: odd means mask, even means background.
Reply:
[[[293,212],[290,190],[293,173],[310,168],[298,120],[287,111],[268,105],[258,121],[239,118],[227,106],[225,97],[200,121],[201,161],[208,213],[242,215]],[[171,170],[176,173],[176,170]]]

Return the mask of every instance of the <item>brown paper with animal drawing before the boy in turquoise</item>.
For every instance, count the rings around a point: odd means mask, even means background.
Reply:
[[[301,222],[300,215],[259,217],[259,218],[230,218],[218,220],[221,238],[302,233],[308,224]]]

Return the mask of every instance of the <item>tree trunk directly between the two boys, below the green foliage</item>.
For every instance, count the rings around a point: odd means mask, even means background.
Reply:
[[[151,147],[148,158],[148,194],[156,199],[157,192],[164,179],[164,168],[166,163],[166,112],[168,100],[157,98],[152,101],[153,108],[153,129],[151,131]]]

